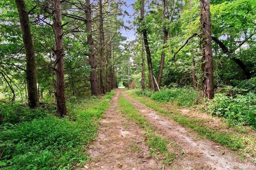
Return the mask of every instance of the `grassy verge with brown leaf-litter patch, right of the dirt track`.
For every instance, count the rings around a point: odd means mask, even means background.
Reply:
[[[158,102],[147,97],[140,97],[135,92],[126,91],[146,106],[158,111],[160,115],[174,119],[184,127],[198,132],[200,137],[207,137],[220,145],[230,147],[240,155],[256,157],[256,134],[250,127],[231,125],[225,119],[213,117],[207,113],[182,113],[177,107],[167,102]],[[255,160],[254,160],[255,161]]]

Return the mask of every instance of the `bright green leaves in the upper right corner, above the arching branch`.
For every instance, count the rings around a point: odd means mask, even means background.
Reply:
[[[240,31],[251,29],[254,24],[251,22],[255,18],[254,0],[239,0],[223,2],[212,6],[212,32],[216,36],[232,32],[233,36],[240,37]]]

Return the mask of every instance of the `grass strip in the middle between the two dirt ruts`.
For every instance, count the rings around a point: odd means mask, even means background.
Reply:
[[[176,146],[177,144],[171,143],[168,139],[156,135],[154,133],[154,127],[150,125],[147,119],[140,114],[140,111],[126,100],[122,94],[120,94],[118,106],[126,119],[135,121],[140,127],[145,129],[144,137],[146,138],[146,145],[150,147],[150,154],[154,157],[161,155],[162,159],[164,159],[163,163],[172,164],[177,154],[168,151],[168,149],[172,147],[172,150],[179,150]],[[169,145],[167,143],[169,143]]]

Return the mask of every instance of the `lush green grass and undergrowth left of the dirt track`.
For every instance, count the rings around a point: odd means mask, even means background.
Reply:
[[[0,104],[0,169],[71,170],[84,165],[86,147],[109,106],[107,96],[70,100],[64,118],[54,116],[54,106]]]

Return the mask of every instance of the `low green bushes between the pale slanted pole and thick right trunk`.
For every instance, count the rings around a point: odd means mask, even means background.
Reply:
[[[192,106],[199,97],[199,93],[193,88],[172,88],[155,92],[151,99],[160,102],[174,102],[178,106]]]

